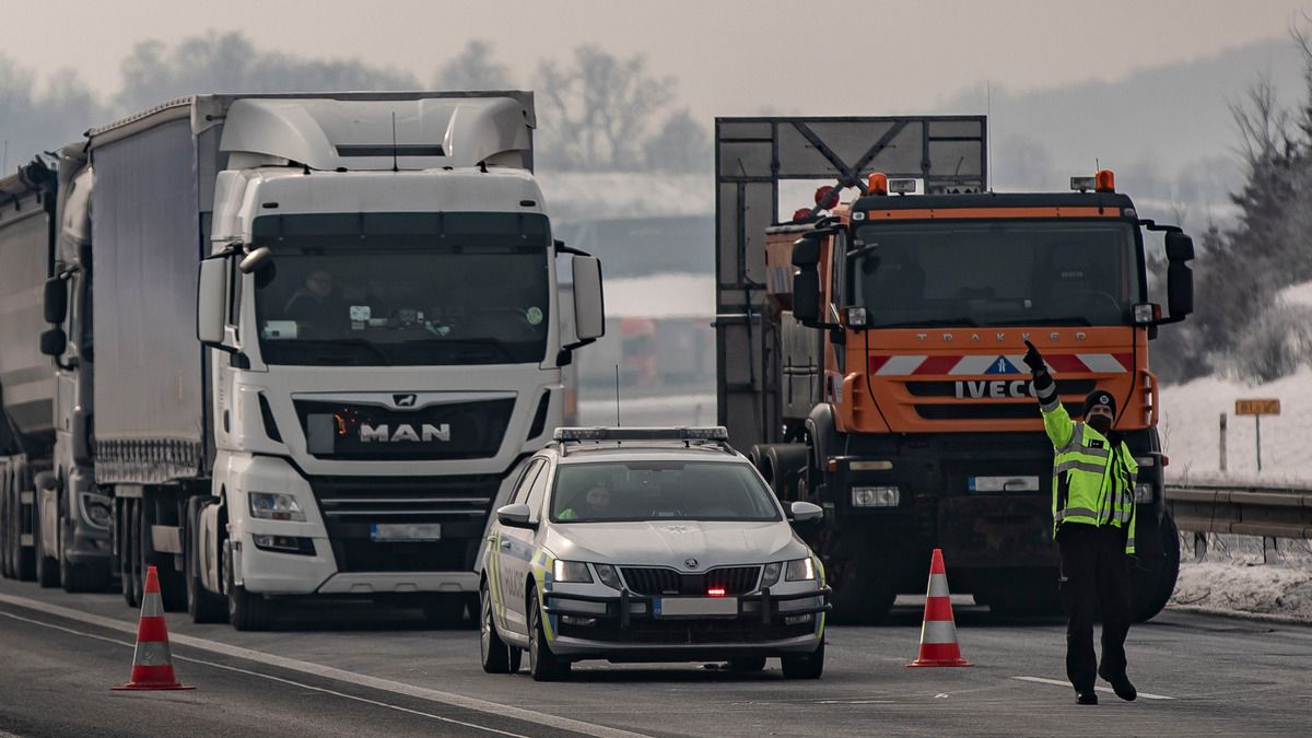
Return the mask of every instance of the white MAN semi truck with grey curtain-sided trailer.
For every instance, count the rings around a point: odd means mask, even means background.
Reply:
[[[526,92],[207,95],[63,150],[41,343],[94,366],[129,603],[151,565],[165,607],[239,629],[285,597],[476,599],[489,511],[604,330],[534,123]]]

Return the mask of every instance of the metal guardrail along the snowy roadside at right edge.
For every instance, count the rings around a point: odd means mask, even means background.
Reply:
[[[1248,485],[1166,485],[1181,531],[1312,538],[1312,490]]]

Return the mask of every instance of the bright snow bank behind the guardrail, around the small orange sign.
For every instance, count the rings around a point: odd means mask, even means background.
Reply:
[[[1312,301],[1312,289],[1299,285]],[[1257,470],[1256,424],[1236,416],[1235,401],[1275,398],[1281,415],[1262,418],[1262,471]],[[1312,483],[1312,366],[1265,385],[1206,377],[1162,387],[1162,446],[1172,482]],[[1220,415],[1227,418],[1227,471],[1219,465]]]

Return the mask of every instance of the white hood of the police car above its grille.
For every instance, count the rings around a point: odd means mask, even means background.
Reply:
[[[804,558],[810,549],[783,521],[571,523],[551,529],[547,548],[571,561],[636,566],[673,566],[706,571],[716,566]],[[693,567],[686,561],[697,559]]]

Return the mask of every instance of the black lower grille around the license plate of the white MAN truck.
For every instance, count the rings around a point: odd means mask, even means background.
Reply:
[[[310,477],[338,571],[472,571],[501,478]],[[378,541],[379,524],[438,524],[436,541]]]

